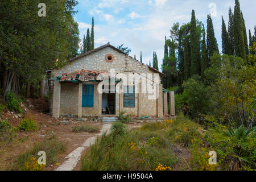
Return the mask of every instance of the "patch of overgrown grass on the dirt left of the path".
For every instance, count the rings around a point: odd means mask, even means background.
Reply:
[[[38,169],[38,166],[35,166],[33,169],[28,168],[27,163],[33,163],[33,161],[31,161],[33,159],[38,160],[39,151],[46,152],[46,167],[51,166],[51,164],[56,164],[59,162],[59,155],[63,154],[66,147],[67,144],[57,140],[55,136],[50,139],[44,139],[41,142],[36,143],[30,150],[19,155],[15,161],[13,169],[25,171]]]

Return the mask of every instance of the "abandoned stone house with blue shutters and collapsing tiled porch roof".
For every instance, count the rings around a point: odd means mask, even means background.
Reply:
[[[132,74],[133,78],[126,80],[112,76],[113,70],[114,75],[129,77]],[[153,76],[148,77],[148,73]],[[154,77],[156,73],[159,77]],[[144,80],[135,84],[134,78],[138,76],[143,76]],[[61,69],[51,71],[50,111],[55,118],[59,115],[101,118],[118,115],[121,111],[138,118],[149,115],[163,118],[163,113],[168,114],[168,92],[160,84],[162,76],[165,76],[162,72],[108,43],[74,57]],[[102,86],[102,82],[108,82],[110,86]],[[149,99],[150,93],[142,92],[144,82],[151,83],[159,91],[156,99]],[[135,85],[138,92],[135,92]],[[175,115],[174,92],[169,93],[170,114]]]

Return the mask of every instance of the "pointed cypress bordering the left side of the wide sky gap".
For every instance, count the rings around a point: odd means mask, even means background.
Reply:
[[[212,18],[210,17],[210,15],[207,15],[207,51],[209,60],[210,56],[212,56],[213,53],[219,53],[218,43],[214,35]]]

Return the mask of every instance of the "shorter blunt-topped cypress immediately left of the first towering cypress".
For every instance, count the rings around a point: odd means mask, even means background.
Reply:
[[[188,78],[191,76],[191,69],[192,69],[192,49],[191,49],[191,44],[189,43],[189,38],[185,38],[185,45],[184,45],[184,81],[187,81]]]

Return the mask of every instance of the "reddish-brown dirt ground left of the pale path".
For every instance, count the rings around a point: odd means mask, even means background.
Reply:
[[[1,144],[0,146],[0,170],[10,170],[12,163],[20,155],[34,146],[35,143],[40,142],[44,138],[49,138],[51,135],[67,143],[67,150],[60,156],[59,163],[64,162],[65,156],[81,146],[86,139],[92,137],[97,133],[74,133],[73,126],[81,126],[90,123],[90,125],[98,126],[101,129],[102,123],[90,122],[91,118],[86,118],[86,122],[78,122],[76,118],[60,117],[59,119],[52,118],[50,114],[39,112],[40,110],[31,109],[28,105],[22,105],[24,113],[22,115],[15,114],[10,111],[3,111],[1,119],[8,119],[14,127],[18,127],[22,118],[36,119],[39,130],[35,132],[16,131],[12,142]],[[25,111],[26,110],[26,111]],[[61,123],[61,121],[68,121],[68,123]],[[54,170],[57,165],[52,165],[45,168],[46,170]]]

